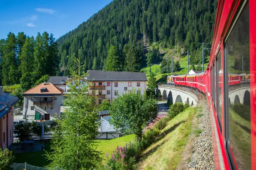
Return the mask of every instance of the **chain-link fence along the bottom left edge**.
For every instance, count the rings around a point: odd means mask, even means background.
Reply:
[[[26,162],[23,164],[12,163],[11,169],[12,170],[64,170],[59,167],[36,167],[30,164],[27,164]]]

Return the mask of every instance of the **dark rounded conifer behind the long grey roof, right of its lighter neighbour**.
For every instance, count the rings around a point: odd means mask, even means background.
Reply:
[[[140,59],[137,48],[134,45],[128,47],[125,52],[125,71],[138,72],[140,70]]]

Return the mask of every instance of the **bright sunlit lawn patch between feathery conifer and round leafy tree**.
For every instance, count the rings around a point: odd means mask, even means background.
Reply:
[[[117,146],[125,146],[126,143],[134,142],[134,134],[132,135],[127,135],[127,136],[122,136],[116,139],[111,139],[111,140],[97,140],[96,144],[97,150],[101,151],[103,155],[105,153],[109,153],[109,156],[111,156],[111,153],[116,149]]]

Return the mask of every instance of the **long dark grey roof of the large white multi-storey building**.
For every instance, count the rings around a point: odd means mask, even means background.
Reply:
[[[148,81],[143,72],[88,71],[90,81]]]

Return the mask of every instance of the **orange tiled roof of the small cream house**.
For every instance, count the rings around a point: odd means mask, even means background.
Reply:
[[[41,93],[41,88],[47,88],[47,90],[44,93]],[[45,85],[44,83],[41,83],[23,93],[24,94],[61,94],[61,88],[58,88],[57,86],[53,85],[50,82],[47,82]]]

